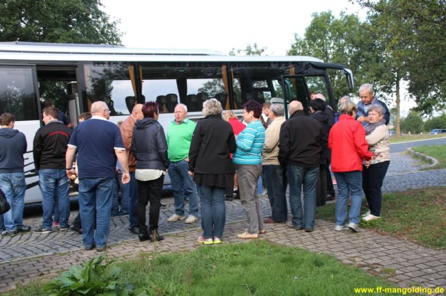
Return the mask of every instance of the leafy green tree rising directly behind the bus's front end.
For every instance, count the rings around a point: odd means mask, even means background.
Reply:
[[[295,42],[287,54],[314,56],[327,63],[346,65],[353,71],[356,85],[373,82],[369,78],[369,65],[374,64],[378,52],[374,48],[369,25],[361,22],[357,15],[346,13],[341,13],[339,18],[334,17],[331,11],[312,16],[304,37],[295,34]],[[334,85],[334,97],[344,97],[348,93],[344,74],[340,71],[330,71],[329,74]]]

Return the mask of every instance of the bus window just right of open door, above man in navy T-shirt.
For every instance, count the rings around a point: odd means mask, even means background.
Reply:
[[[111,116],[129,115],[135,100],[130,71],[131,66],[121,63],[85,65],[88,110],[95,101],[105,101]]]

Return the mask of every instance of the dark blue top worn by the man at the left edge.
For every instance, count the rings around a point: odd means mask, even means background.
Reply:
[[[0,129],[0,173],[24,172],[26,137],[17,129]]]

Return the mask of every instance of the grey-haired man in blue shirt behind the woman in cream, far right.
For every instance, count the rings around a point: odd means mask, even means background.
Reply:
[[[367,122],[369,122],[369,108],[371,106],[381,106],[384,108],[384,120],[385,124],[389,124],[390,121],[390,112],[387,105],[374,97],[374,87],[369,83],[365,83],[361,85],[360,90],[360,99],[361,101],[357,103],[357,113],[356,120],[361,122],[362,126],[365,126]]]

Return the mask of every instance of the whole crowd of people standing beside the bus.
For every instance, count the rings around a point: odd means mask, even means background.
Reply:
[[[389,110],[374,97],[371,85],[362,85],[359,94],[359,104],[343,97],[339,113],[334,113],[322,94],[312,93],[309,114],[300,101],[291,101],[288,120],[284,104],[277,102],[262,106],[247,101],[242,122],[231,110],[223,114],[220,101],[208,99],[203,103],[204,118],[197,123],[187,117],[187,106],[178,104],[167,134],[157,121],[159,106],[153,101],[136,104],[119,126],[109,121],[107,104],[96,101],[74,130],[49,102],[43,108],[45,125],[33,140],[43,195],[43,222],[34,232],[71,228],[82,234],[85,249],[101,252],[116,212],[128,214],[128,229],[139,240],[163,240],[158,221],[166,174],[175,207],[167,222],[189,224],[201,218],[199,243],[222,242],[225,200],[235,197],[247,218],[247,228],[238,238],[259,238],[268,223],[288,222],[295,230],[310,232],[316,206],[334,199],[331,172],[338,188],[334,230],[357,232],[360,219],[380,218],[381,186],[390,164]],[[0,229],[2,235],[11,236],[31,231],[22,224],[26,138],[14,129],[14,122],[13,115],[0,115],[0,189],[11,204]],[[270,202],[271,215],[266,219],[259,179]],[[70,227],[72,181],[78,183],[79,215]],[[363,192],[369,211],[361,218]]]

